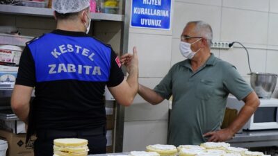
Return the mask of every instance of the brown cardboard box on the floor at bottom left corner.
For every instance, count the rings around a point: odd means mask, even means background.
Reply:
[[[0,130],[1,139],[8,141],[7,156],[33,156],[33,145],[35,137],[31,137],[31,140],[25,144],[26,134],[15,135],[13,132],[6,130]]]

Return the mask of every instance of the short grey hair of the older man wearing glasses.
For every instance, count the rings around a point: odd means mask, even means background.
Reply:
[[[189,24],[195,24],[195,32],[198,35],[205,37],[208,46],[211,47],[211,44],[213,44],[213,30],[211,26],[204,21],[189,21],[186,26]]]

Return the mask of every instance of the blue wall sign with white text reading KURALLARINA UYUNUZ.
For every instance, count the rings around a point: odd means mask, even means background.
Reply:
[[[171,0],[132,0],[131,27],[170,30]]]

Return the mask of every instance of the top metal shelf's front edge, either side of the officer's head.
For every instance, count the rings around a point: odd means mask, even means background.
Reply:
[[[10,6],[0,4],[0,13],[10,15],[31,15],[39,17],[53,17],[54,10],[50,8],[35,8],[26,6]],[[92,20],[124,21],[124,15],[91,13]]]

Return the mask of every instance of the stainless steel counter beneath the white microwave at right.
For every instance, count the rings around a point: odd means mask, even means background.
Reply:
[[[227,142],[243,148],[278,146],[278,130],[243,131]]]

